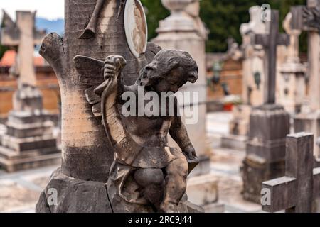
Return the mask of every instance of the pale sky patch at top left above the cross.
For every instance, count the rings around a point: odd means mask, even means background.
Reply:
[[[0,0],[0,16],[4,9],[12,18],[17,10],[37,11],[37,16],[55,20],[64,17],[64,0]]]

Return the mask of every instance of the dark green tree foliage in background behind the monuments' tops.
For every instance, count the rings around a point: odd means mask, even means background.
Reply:
[[[166,18],[169,12],[161,5],[160,0],[142,0],[146,7],[149,26],[149,38],[156,36],[155,29],[159,20]],[[290,6],[306,5],[306,0],[201,0],[200,16],[210,30],[206,45],[207,52],[225,52],[227,38],[233,37],[238,43],[242,42],[240,25],[249,21],[249,8],[270,4],[272,9],[280,11],[280,28],[282,21],[290,10]],[[302,35],[302,51],[306,51],[306,35]]]

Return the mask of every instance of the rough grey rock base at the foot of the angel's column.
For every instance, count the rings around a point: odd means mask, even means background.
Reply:
[[[56,194],[55,194],[56,193]],[[53,195],[56,195],[56,199]],[[110,196],[110,193],[109,193]],[[36,205],[36,213],[118,213],[118,212],[154,212],[151,207],[128,206],[123,201],[113,201],[110,205],[107,186],[102,182],[84,181],[63,175],[60,168],[53,172],[46,189]],[[114,199],[116,199],[114,197]],[[179,205],[182,213],[203,212],[200,207],[191,204],[184,197]]]

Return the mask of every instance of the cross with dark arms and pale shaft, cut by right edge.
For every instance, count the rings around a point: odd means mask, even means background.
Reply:
[[[292,7],[292,27],[308,31],[309,99],[311,111],[320,109],[320,0],[308,0],[307,6]]]

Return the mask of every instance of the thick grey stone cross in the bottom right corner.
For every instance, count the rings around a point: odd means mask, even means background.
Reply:
[[[314,135],[287,135],[286,174],[262,183],[262,210],[310,213],[320,196],[320,168],[314,169]],[[269,201],[268,201],[269,200]]]

